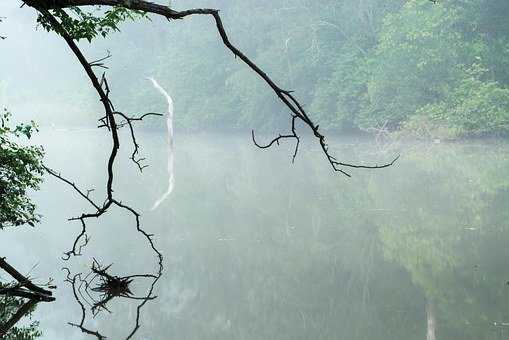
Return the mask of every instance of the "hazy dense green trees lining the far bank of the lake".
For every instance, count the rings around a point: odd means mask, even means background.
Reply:
[[[296,90],[322,127],[363,130],[386,124],[447,137],[507,132],[505,1],[200,3],[222,8],[232,40]],[[146,57],[145,72],[164,79],[177,98],[181,128],[271,130],[283,124],[271,114],[279,106],[267,100],[263,84],[221,58],[224,51],[214,35],[191,38],[191,31],[206,31],[208,24],[176,26],[171,43],[157,37],[143,42],[141,36],[154,32],[126,27],[132,53],[114,52],[112,74],[126,78],[121,66]],[[259,30],[264,34],[256,34]],[[126,36],[113,39],[113,51]],[[147,49],[153,54],[147,56]],[[128,83],[132,87],[132,80]],[[146,87],[142,79],[137,84]],[[154,106],[156,94],[139,88],[127,90],[125,99],[139,108]]]

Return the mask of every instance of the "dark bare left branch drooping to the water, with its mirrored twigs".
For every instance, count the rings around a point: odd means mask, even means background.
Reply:
[[[134,277],[145,277],[145,278],[152,279],[152,283],[151,283],[150,288],[148,289],[147,295],[145,295],[145,297],[133,297],[133,296],[130,297],[133,300],[141,300],[141,303],[139,303],[137,306],[136,321],[133,326],[133,329],[131,330],[129,335],[126,337],[126,339],[131,339],[132,336],[140,328],[140,315],[141,315],[141,310],[142,310],[143,306],[146,304],[147,301],[155,298],[152,294],[155,289],[156,283],[161,278],[162,273],[163,273],[163,256],[162,256],[161,252],[155,247],[155,244],[153,242],[153,235],[147,233],[145,230],[143,230],[143,228],[141,228],[140,214],[135,209],[131,208],[129,205],[122,203],[121,201],[117,200],[114,197],[114,194],[113,194],[114,165],[115,165],[115,160],[116,160],[116,157],[118,154],[118,149],[120,147],[118,129],[120,129],[122,126],[125,126],[125,125],[127,125],[129,127],[129,129],[131,131],[132,143],[134,145],[134,151],[132,153],[131,159],[138,166],[138,168],[141,171],[141,170],[143,170],[143,167],[144,167],[141,165],[141,161],[143,159],[136,158],[136,155],[138,154],[138,151],[139,151],[139,145],[136,141],[132,123],[135,121],[141,121],[143,118],[145,118],[147,116],[159,115],[159,114],[148,113],[148,114],[144,114],[140,117],[131,118],[119,111],[116,111],[113,106],[113,103],[109,99],[110,88],[108,86],[108,82],[106,80],[105,74],[103,73],[101,76],[101,79],[99,80],[92,70],[92,67],[94,67],[94,66],[104,66],[104,65],[102,65],[102,61],[105,59],[102,58],[98,61],[96,60],[91,63],[88,62],[87,59],[85,58],[85,56],[80,51],[80,49],[78,48],[78,46],[76,45],[76,43],[74,42],[74,40],[72,39],[72,37],[69,35],[68,32],[66,32],[66,30],[58,22],[58,20],[48,11],[48,9],[44,6],[44,4],[42,2],[38,2],[38,3],[39,3],[39,6],[36,7],[37,10],[41,13],[41,15],[46,20],[48,20],[48,22],[52,25],[52,27],[55,29],[55,31],[66,41],[67,45],[70,47],[70,49],[72,50],[72,52],[74,53],[74,55],[76,56],[76,58],[78,59],[80,64],[82,65],[83,69],[85,70],[85,73],[87,74],[88,78],[90,79],[92,86],[94,87],[97,94],[99,95],[99,98],[103,104],[104,112],[105,112],[105,116],[100,119],[100,121],[102,122],[102,125],[100,125],[100,127],[106,127],[108,129],[110,136],[111,136],[112,144],[113,144],[111,151],[110,151],[110,156],[108,158],[108,163],[107,163],[108,176],[107,176],[107,183],[106,183],[106,198],[102,204],[97,203],[90,197],[91,190],[87,190],[85,192],[85,191],[81,190],[80,188],[78,188],[78,186],[74,182],[64,178],[60,173],[57,173],[56,171],[54,171],[48,167],[45,167],[46,171],[50,175],[67,183],[71,188],[73,188],[73,190],[76,193],[78,193],[79,196],[81,196],[85,201],[87,201],[95,209],[95,211],[93,211],[93,212],[82,213],[80,216],[73,217],[73,218],[69,219],[70,221],[80,221],[82,228],[81,228],[81,232],[78,234],[78,236],[74,240],[72,249],[64,253],[64,259],[68,260],[71,256],[81,255],[83,247],[86,246],[90,240],[87,235],[86,221],[90,218],[100,217],[101,215],[103,215],[104,213],[109,211],[109,209],[111,208],[112,205],[117,206],[118,208],[127,211],[134,217],[134,219],[136,221],[136,230],[146,238],[147,243],[149,244],[152,251],[155,253],[155,255],[157,257],[157,270],[156,270],[155,274],[136,274],[136,275],[128,276],[127,279],[126,279],[126,277],[124,277],[124,278],[117,277],[120,280],[119,282],[126,283],[127,285],[130,282],[129,280],[131,280]],[[121,118],[124,119],[124,121],[121,123],[117,123],[116,118],[115,118],[116,116],[120,116]],[[92,271],[95,273],[95,277],[99,276],[105,280],[107,280],[108,278],[112,278],[107,275],[106,270],[107,270],[107,268],[101,269],[100,266],[97,265],[97,262],[94,262],[94,265],[92,266]],[[77,301],[77,303],[80,305],[80,308],[82,310],[82,316],[81,316],[80,322],[79,323],[70,323],[70,324],[72,326],[80,328],[83,333],[86,333],[89,335],[94,335],[100,340],[104,339],[105,337],[101,333],[99,333],[99,331],[92,331],[85,326],[87,312],[86,312],[84,303],[80,299],[80,295],[81,295],[80,287],[84,283],[86,284],[86,287],[88,287],[90,282],[86,281],[86,278],[82,279],[82,273],[79,273],[76,275],[71,275],[69,269],[66,269],[66,271],[67,271],[66,281],[72,285],[74,298]],[[115,280],[116,279],[114,279],[112,282],[118,283],[117,282],[118,280],[117,281],[115,281]],[[127,281],[123,281],[123,280],[127,280]],[[127,294],[127,291],[124,291],[123,294],[108,295],[105,299],[102,300],[102,302],[99,301],[95,305],[92,306],[92,314],[96,313],[99,309],[106,308],[105,307],[106,303],[111,298],[113,298],[117,295],[123,296],[123,297],[129,297],[129,294]],[[81,295],[81,297],[83,297],[83,295]]]

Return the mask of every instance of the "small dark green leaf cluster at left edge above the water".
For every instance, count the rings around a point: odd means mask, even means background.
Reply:
[[[44,172],[42,147],[19,144],[37,131],[34,122],[10,126],[11,114],[0,114],[0,229],[28,224],[34,226],[40,216],[28,197],[39,189]]]

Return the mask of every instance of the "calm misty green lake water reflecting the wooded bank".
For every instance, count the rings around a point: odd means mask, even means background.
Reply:
[[[109,141],[103,132],[43,132],[47,164],[102,201]],[[176,189],[166,190],[162,134],[141,134],[150,167],[117,165],[115,194],[143,212],[165,256],[158,299],[135,339],[508,339],[509,145],[383,145],[337,140],[353,162],[392,168],[331,172],[313,146],[254,148],[249,135],[177,136]],[[48,178],[34,195],[35,229],[2,232],[9,261],[38,282],[54,278],[57,301],[40,304],[43,339],[82,339],[67,325],[79,307],[60,268],[86,271],[92,257],[114,274],[156,262],[129,215],[112,210],[90,223],[85,255],[60,259],[88,207]],[[134,287],[143,291],[143,284]],[[115,300],[91,320],[122,339],[136,304]],[[434,337],[432,335],[434,333]]]

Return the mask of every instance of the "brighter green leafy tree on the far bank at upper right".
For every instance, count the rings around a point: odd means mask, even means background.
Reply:
[[[413,0],[388,15],[368,64],[364,124],[426,119],[451,135],[506,132],[509,92],[491,76],[499,62],[487,61],[497,39],[483,32],[484,12],[475,1]]]

